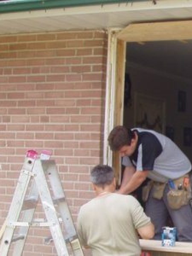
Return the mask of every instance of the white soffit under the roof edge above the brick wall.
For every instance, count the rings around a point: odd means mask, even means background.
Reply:
[[[108,29],[129,23],[192,18],[192,0],[152,0],[0,14],[0,34]]]

